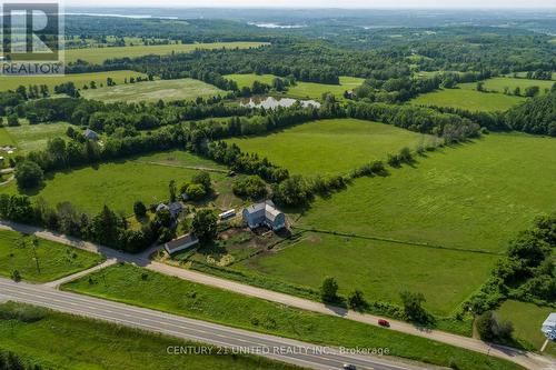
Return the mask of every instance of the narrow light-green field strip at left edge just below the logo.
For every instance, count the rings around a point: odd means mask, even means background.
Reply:
[[[16,90],[19,86],[28,87],[29,84],[46,84],[50,89],[50,93],[54,93],[54,87],[64,82],[73,82],[76,88],[81,89],[83,84],[89,84],[91,81],[100,87],[100,83],[106,86],[106,79],[111,77],[116,83],[123,83],[125,79],[130,77],[147,77],[143,73],[136,71],[110,71],[95,73],[77,73],[64,76],[46,76],[46,77],[7,77],[0,76],[0,91]]]

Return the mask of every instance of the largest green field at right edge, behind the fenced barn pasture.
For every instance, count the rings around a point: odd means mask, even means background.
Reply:
[[[503,252],[556,208],[556,140],[489,134],[317,199],[300,226]]]

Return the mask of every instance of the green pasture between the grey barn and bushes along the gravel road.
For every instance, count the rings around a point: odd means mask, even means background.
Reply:
[[[245,260],[249,269],[319,289],[335,277],[340,294],[359,289],[366,299],[400,303],[404,290],[423,292],[426,308],[448,316],[488,277],[496,256],[379,240],[307,233],[299,242]],[[434,286],[434,289],[431,289]]]

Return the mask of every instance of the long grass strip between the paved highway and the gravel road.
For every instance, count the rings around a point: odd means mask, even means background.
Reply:
[[[196,319],[219,322],[300,339],[345,347],[388,348],[390,354],[458,369],[518,369],[509,362],[360,322],[289,308],[266,300],[192,283],[156,272],[117,264],[63,286],[95,297],[148,307]]]

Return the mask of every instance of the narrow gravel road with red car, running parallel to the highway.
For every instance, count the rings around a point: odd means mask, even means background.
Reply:
[[[129,254],[116,251],[113,249],[98,246],[91,242],[81,241],[75,238],[69,238],[62,234],[56,234],[50,231],[46,231],[40,228],[19,224],[10,221],[0,220],[0,228],[8,229],[12,231],[19,231],[29,234],[36,234],[37,237],[57,241],[67,246],[93,251],[97,253],[102,253],[107,257],[107,259],[117,259],[118,261],[135,263],[139,267],[146,268],[151,271],[156,271],[159,273],[163,273],[171,277],[177,277],[183,280],[193,281],[197,283],[211,286],[225,290],[230,290],[240,294],[256,297],[260,299],[265,299],[268,301],[299,308],[302,310],[314,311],[318,313],[335,316],[345,318],[348,320],[354,320],[358,322],[363,322],[366,324],[378,326],[377,321],[380,317],[368,314],[368,313],[359,313],[355,311],[349,311],[344,308],[338,308],[334,306],[327,306],[320,302],[279,293],[271,290],[266,290],[261,288],[251,287],[248,284],[239,283],[231,280],[226,280],[221,278],[217,278],[214,276],[200,273],[197,271],[185,270],[181,268],[172,267],[169,264],[165,264],[161,262],[152,261],[149,259],[149,256],[158,250],[158,247],[152,247],[147,251],[140,254]],[[485,353],[488,356],[495,356],[505,360],[513,361],[517,364],[520,364],[527,369],[532,370],[550,370],[556,369],[556,361],[549,358],[542,357],[539,354],[527,352],[524,350],[518,350],[510,347],[493,344],[488,342],[484,342],[474,338],[461,337],[439,330],[430,330],[420,327],[416,327],[411,323],[397,321],[397,320],[388,320],[390,322],[389,330],[395,330],[399,332],[404,332],[411,336],[423,337],[430,340],[435,340],[438,342],[443,342],[446,344],[465,348],[468,350],[473,350],[476,352]]]

